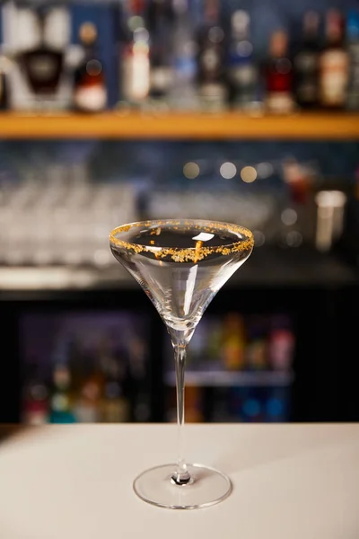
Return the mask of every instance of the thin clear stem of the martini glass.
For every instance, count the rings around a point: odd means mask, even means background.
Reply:
[[[176,390],[177,390],[177,426],[178,426],[178,451],[176,472],[172,475],[172,482],[178,485],[186,485],[190,481],[187,464],[184,459],[183,426],[185,422],[185,367],[186,367],[186,344],[174,344],[174,360],[176,366]]]

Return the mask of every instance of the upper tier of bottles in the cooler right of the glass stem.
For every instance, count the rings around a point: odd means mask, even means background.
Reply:
[[[188,347],[186,384],[286,387],[293,384],[295,337],[289,315],[206,315]],[[164,375],[175,385],[172,369]]]

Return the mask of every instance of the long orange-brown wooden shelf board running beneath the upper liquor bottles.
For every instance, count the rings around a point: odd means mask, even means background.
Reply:
[[[359,114],[0,114],[0,139],[359,140]]]

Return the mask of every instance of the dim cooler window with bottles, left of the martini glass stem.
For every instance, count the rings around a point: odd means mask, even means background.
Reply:
[[[144,316],[24,314],[22,422],[151,419]]]

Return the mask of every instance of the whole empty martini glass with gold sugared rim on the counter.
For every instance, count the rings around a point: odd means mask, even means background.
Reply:
[[[179,429],[177,464],[141,473],[136,494],[162,508],[202,508],[232,490],[224,473],[187,464],[183,451],[184,378],[188,342],[206,306],[253,249],[250,230],[202,220],[158,220],[122,225],[109,234],[115,258],[143,287],[170,333],[174,349]]]

